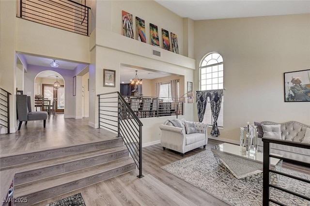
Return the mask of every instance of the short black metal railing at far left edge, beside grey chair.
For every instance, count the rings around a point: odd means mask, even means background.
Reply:
[[[0,88],[0,127],[7,128],[8,134],[10,133],[10,95],[10,92]]]

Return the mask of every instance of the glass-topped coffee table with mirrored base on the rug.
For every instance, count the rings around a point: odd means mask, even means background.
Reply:
[[[211,149],[217,163],[225,170],[228,169],[237,179],[245,178],[249,181],[263,182],[263,153],[240,152],[240,146],[223,143]],[[277,154],[273,154],[277,155]],[[282,157],[281,155],[277,155]],[[270,158],[271,167],[281,170],[282,160]],[[278,177],[271,173],[271,182],[277,184]]]

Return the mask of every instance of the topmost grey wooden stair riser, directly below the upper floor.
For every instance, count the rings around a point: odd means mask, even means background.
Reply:
[[[0,168],[10,167],[29,162],[38,162],[58,158],[77,153],[98,150],[107,147],[124,145],[122,138],[112,138],[105,141],[96,141],[92,143],[75,144],[67,147],[52,147],[49,149],[39,149],[31,152],[16,152],[15,154],[0,156]]]

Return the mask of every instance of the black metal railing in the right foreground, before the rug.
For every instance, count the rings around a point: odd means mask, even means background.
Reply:
[[[294,159],[279,157],[279,156],[270,154],[270,143],[279,144],[279,145],[286,145],[286,146],[290,146],[290,147],[306,148],[306,149],[310,149],[310,145],[306,144],[306,143],[298,143],[298,142],[285,141],[285,140],[272,139],[272,138],[263,138],[262,140],[263,140],[263,206],[268,206],[269,202],[272,202],[272,203],[277,204],[279,206],[285,206],[283,203],[280,203],[280,202],[270,198],[270,187],[274,188],[276,190],[287,192],[288,194],[292,194],[294,196],[300,197],[300,198],[305,199],[307,201],[310,201],[309,196],[284,189],[284,188],[279,187],[279,186],[274,185],[274,184],[270,184],[270,173],[275,173],[278,175],[282,175],[285,177],[289,177],[289,178],[296,179],[296,180],[305,182],[307,184],[310,184],[310,180],[308,180],[308,179],[295,177],[293,175],[289,175],[289,174],[286,174],[283,172],[279,172],[279,171],[270,169],[270,158],[277,158],[277,159],[281,159],[285,162],[294,163],[296,165],[301,165],[301,166],[305,166],[305,167],[310,167],[310,163],[307,163],[307,162],[296,161]]]

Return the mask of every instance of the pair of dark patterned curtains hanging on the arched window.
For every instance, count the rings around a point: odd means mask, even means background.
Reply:
[[[221,110],[223,89],[196,92],[196,103],[199,122],[202,122],[203,120],[205,107],[207,105],[207,97],[210,97],[211,112],[214,119],[211,135],[217,137],[220,135],[217,128],[217,118],[219,115],[219,111]]]

